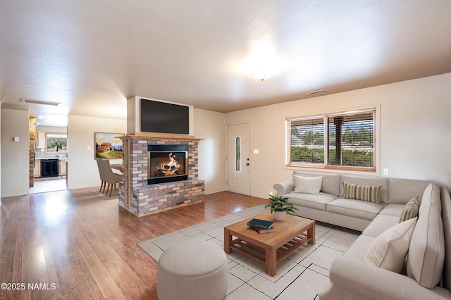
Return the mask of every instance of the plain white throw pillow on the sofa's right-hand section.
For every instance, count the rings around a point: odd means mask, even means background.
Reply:
[[[409,251],[410,239],[417,218],[412,218],[385,230],[373,241],[364,257],[364,263],[401,273]]]

